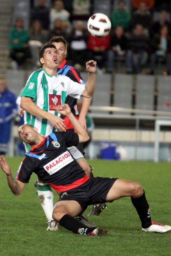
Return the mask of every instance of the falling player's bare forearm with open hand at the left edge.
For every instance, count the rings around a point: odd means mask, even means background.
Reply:
[[[3,172],[7,175],[7,182],[8,186],[11,189],[12,193],[15,196],[18,196],[23,191],[24,187],[26,186],[26,183],[21,182],[19,180],[14,180],[14,177],[11,173],[11,168],[8,165],[7,161],[5,160],[4,156],[0,156],[0,167]]]

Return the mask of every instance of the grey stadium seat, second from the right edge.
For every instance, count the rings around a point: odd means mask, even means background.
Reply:
[[[154,76],[138,75],[136,82],[135,109],[154,110]],[[142,114],[137,114],[142,115]],[[151,114],[144,114],[151,115]]]

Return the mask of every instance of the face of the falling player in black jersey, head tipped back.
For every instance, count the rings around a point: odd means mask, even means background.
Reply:
[[[28,144],[34,143],[38,135],[37,129],[29,124],[22,124],[19,126],[18,134],[20,138]]]

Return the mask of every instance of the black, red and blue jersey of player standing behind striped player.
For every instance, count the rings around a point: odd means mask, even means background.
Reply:
[[[60,75],[64,75],[66,77],[69,77],[72,81],[77,82],[79,84],[85,84],[85,82],[83,81],[80,72],[75,69],[74,67],[70,66],[67,64],[66,60],[64,60],[59,67],[57,68],[57,74]],[[69,107],[71,108],[71,112],[75,115],[78,116],[78,111],[76,108],[76,103],[77,103],[77,99],[73,98],[71,96],[67,96],[65,103],[69,105]],[[64,117],[63,115],[61,115],[61,118],[63,118],[66,124],[66,129],[72,129],[73,126],[71,124],[71,122],[69,122],[67,117]]]

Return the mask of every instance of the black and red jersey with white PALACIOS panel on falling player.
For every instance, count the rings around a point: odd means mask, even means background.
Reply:
[[[89,179],[67,149],[78,143],[78,134],[74,132],[51,133],[40,145],[25,153],[16,178],[28,183],[34,172],[58,192],[78,187]]]

